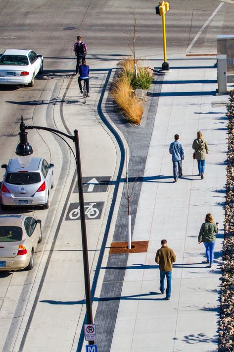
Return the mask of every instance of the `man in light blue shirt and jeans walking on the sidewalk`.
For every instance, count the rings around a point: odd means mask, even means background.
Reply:
[[[182,177],[182,160],[185,159],[185,151],[183,144],[179,141],[179,134],[175,134],[175,141],[170,144],[169,153],[172,154],[173,176],[174,182],[178,177]]]

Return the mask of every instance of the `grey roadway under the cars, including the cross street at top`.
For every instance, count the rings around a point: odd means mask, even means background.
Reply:
[[[28,124],[66,130],[66,121],[61,115],[66,103],[66,89],[70,89],[72,84],[75,69],[72,46],[78,34],[88,46],[87,60],[91,68],[98,70],[114,66],[122,56],[131,54],[134,13],[137,20],[137,56],[149,61],[163,58],[161,17],[155,14],[156,4],[152,0],[1,0],[0,53],[6,48],[35,50],[45,58],[45,71],[43,75],[38,75],[32,88],[0,86],[0,164],[7,163],[9,158],[15,156],[21,115]],[[233,33],[233,12],[233,0],[170,1],[170,11],[166,14],[168,59],[185,52],[216,53],[216,36]],[[101,76],[98,77],[100,86],[101,79]],[[75,90],[69,99],[76,99]],[[85,121],[80,121],[81,133],[83,126]],[[84,135],[82,138],[85,141]],[[56,239],[54,233],[61,225],[63,204],[73,184],[75,171],[66,145],[50,134],[30,131],[29,141],[35,154],[45,156],[48,162],[56,161],[56,187],[51,196],[50,209],[33,211],[42,219],[44,226],[44,241],[39,246],[34,270],[29,273],[0,273],[0,319],[3,326],[0,349],[4,352],[18,351],[16,340],[21,341],[23,351],[23,333],[30,315],[27,302],[34,301],[38,278],[46,279],[46,262],[42,258],[45,251],[51,248],[53,238]],[[110,143],[110,160],[111,153],[114,154],[114,149]],[[95,158],[93,165],[97,169]],[[111,166],[110,172],[113,169]],[[2,176],[3,170],[0,171],[0,178]],[[101,232],[100,229],[98,231]],[[83,270],[82,267],[80,270]],[[56,271],[54,275],[57,275]],[[74,334],[79,335],[79,329]]]

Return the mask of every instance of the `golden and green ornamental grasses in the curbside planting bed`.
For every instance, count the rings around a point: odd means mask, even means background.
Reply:
[[[152,75],[146,67],[140,67],[139,60],[135,62],[138,70],[137,78],[134,72],[134,59],[127,57],[118,63],[122,70],[113,83],[111,93],[123,115],[132,123],[140,124],[143,102],[136,97],[134,89],[148,89],[152,82]]]

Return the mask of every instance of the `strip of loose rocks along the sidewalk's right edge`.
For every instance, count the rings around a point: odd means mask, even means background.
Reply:
[[[219,352],[234,352],[234,90],[227,106],[229,147],[223,243]]]

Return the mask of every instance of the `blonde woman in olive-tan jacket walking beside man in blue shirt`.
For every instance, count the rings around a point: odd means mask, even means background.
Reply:
[[[196,134],[196,139],[194,139],[192,143],[192,149],[195,150],[193,153],[193,159],[197,160],[197,166],[199,175],[201,179],[204,178],[205,171],[205,158],[206,154],[208,154],[209,149],[206,140],[203,138],[201,131],[198,131]]]

